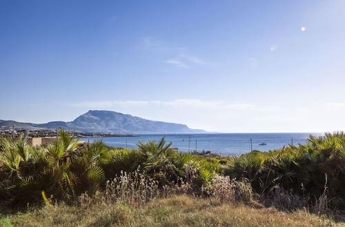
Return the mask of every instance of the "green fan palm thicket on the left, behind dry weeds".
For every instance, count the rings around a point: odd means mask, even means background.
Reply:
[[[101,141],[78,146],[77,139],[63,130],[59,140],[46,147],[31,147],[23,134],[3,138],[0,199],[8,206],[23,206],[41,202],[44,193],[51,201],[70,203],[82,193],[92,196],[103,191],[106,182],[135,171],[164,188],[191,180],[192,173],[186,171],[193,170],[193,183],[200,188],[221,171],[217,158],[178,153],[170,145],[162,138],[139,142],[135,150],[113,149]]]

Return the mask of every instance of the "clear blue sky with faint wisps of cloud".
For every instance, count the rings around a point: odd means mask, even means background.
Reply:
[[[345,130],[345,1],[0,0],[0,119]]]

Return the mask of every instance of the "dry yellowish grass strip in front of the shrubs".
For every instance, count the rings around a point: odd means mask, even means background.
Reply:
[[[157,199],[140,208],[98,202],[80,206],[31,208],[0,219],[0,226],[337,226],[304,210],[286,213],[275,208],[198,199],[187,195]]]

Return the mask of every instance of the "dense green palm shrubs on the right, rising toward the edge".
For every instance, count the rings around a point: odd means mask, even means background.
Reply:
[[[288,206],[313,206],[317,213],[344,210],[345,133],[310,136],[306,144],[275,151],[252,151],[233,158],[224,174],[249,180],[264,197],[284,193]]]

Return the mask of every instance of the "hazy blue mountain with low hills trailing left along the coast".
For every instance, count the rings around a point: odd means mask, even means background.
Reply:
[[[34,129],[58,129],[90,133],[206,133],[204,130],[190,129],[186,125],[146,120],[130,114],[115,111],[90,110],[71,122],[52,121],[45,124],[21,123],[0,120],[0,127]]]

